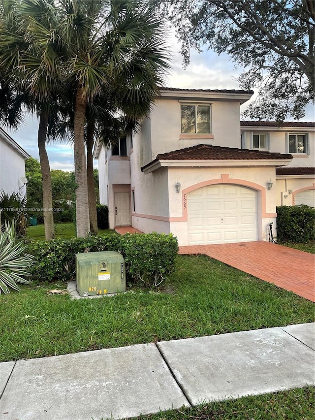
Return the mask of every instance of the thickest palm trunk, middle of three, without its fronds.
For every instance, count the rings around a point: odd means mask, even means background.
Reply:
[[[77,236],[86,237],[90,232],[88,179],[85,159],[84,124],[87,102],[83,89],[78,88],[74,112],[74,173],[76,188]]]

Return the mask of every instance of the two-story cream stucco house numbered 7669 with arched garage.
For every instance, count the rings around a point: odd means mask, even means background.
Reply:
[[[256,127],[240,127],[240,105],[252,94],[164,88],[133,138],[122,135],[112,150],[97,143],[100,202],[108,204],[110,227],[172,232],[179,245],[268,240],[269,224],[276,226],[276,168],[295,156],[285,141],[278,150],[261,147],[262,135],[254,147]]]

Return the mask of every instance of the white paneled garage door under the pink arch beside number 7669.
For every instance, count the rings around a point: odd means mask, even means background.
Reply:
[[[221,244],[258,240],[257,193],[218,184],[188,194],[189,243]]]

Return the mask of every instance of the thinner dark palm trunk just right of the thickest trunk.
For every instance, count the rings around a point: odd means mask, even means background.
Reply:
[[[96,196],[93,170],[94,128],[95,120],[88,121],[86,144],[90,228],[91,232],[97,233]]]

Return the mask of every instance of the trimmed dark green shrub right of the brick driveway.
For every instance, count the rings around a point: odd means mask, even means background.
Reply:
[[[305,204],[277,207],[277,240],[306,243],[314,240],[315,208]]]

